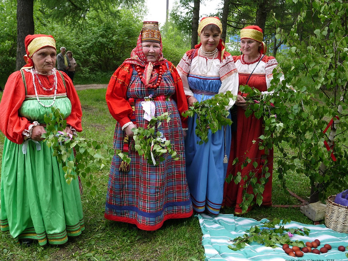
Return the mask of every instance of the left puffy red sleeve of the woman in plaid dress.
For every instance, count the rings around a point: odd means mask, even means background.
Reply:
[[[111,76],[106,89],[106,104],[109,112],[121,126],[130,122],[133,109],[127,100],[127,89],[133,68],[130,64],[122,64]]]

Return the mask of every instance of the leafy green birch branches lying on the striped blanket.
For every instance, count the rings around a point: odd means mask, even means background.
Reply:
[[[264,222],[262,225],[253,226],[246,230],[242,237],[236,237],[231,240],[232,245],[228,247],[231,250],[237,251],[245,247],[246,244],[253,242],[270,247],[277,247],[283,244],[292,246],[304,247],[303,241],[291,240],[293,234],[309,235],[308,228],[294,229],[285,228],[286,223],[290,223],[290,219],[274,219],[273,221]]]

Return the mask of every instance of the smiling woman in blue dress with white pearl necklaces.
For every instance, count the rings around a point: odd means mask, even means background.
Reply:
[[[220,39],[222,24],[218,17],[204,17],[198,25],[200,43],[185,53],[177,70],[182,78],[188,105],[231,91],[237,95],[238,73],[232,56],[224,52]],[[234,104],[231,99],[226,110]],[[200,141],[195,133],[196,118],[189,118],[185,139],[186,175],[193,209],[219,214],[223,199],[223,184],[230,153],[231,127],[225,126],[214,134],[209,130],[208,142]]]

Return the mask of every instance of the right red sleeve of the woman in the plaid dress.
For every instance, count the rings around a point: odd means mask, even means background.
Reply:
[[[173,77],[174,85],[175,85],[175,94],[173,95],[173,99],[176,102],[177,109],[179,110],[179,113],[180,113],[182,127],[187,128],[188,127],[187,117],[183,117],[182,113],[187,111],[189,108],[187,105],[187,100],[186,100],[186,95],[184,92],[184,87],[182,85],[182,80],[175,66],[171,62],[168,62],[168,64],[169,64],[169,71],[172,73],[172,77]]]

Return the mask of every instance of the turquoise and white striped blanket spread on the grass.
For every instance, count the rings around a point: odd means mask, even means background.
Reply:
[[[330,244],[332,250],[325,254],[304,253],[303,257],[287,255],[282,246],[271,248],[257,243],[246,245],[245,248],[233,251],[228,248],[232,239],[243,236],[245,231],[252,226],[267,222],[267,219],[257,221],[233,214],[206,215],[198,214],[199,224],[203,232],[202,244],[205,251],[205,260],[231,260],[231,261],[339,261],[348,260],[346,252],[338,251],[338,246],[348,246],[348,234],[339,233],[324,225],[308,225],[291,221],[285,224],[285,228],[308,228],[308,236],[294,235],[293,240],[314,241],[319,239],[321,246]]]

